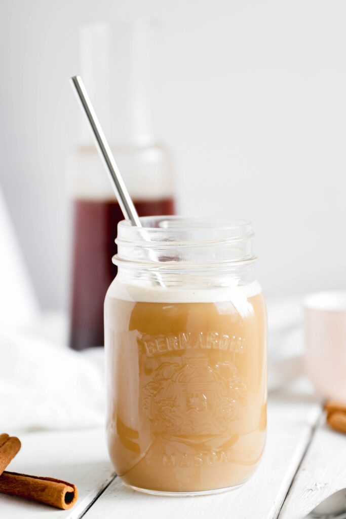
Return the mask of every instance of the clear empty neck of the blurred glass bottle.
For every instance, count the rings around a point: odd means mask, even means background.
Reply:
[[[81,26],[81,76],[109,142],[147,146],[155,141],[151,110],[155,24],[148,20]],[[81,145],[92,144],[84,118]]]

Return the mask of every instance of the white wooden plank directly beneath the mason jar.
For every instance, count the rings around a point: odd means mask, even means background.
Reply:
[[[319,404],[300,400],[297,396],[271,398],[264,458],[242,488],[214,496],[169,498],[137,493],[116,478],[84,518],[276,519],[321,414]]]

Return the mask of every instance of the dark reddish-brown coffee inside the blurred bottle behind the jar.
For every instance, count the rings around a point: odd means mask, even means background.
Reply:
[[[174,214],[173,198],[134,201],[140,216]],[[112,256],[118,222],[114,201],[74,201],[73,288],[70,345],[81,350],[103,346],[103,302],[117,274]]]

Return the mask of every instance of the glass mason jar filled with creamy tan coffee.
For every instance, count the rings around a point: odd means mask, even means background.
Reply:
[[[266,440],[267,314],[252,225],[141,222],[118,224],[105,299],[110,458],[147,493],[239,486]]]

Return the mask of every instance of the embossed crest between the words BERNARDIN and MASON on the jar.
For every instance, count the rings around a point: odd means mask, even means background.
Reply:
[[[156,432],[191,441],[221,436],[236,419],[246,385],[230,362],[208,365],[206,357],[181,357],[164,362],[144,387],[145,409]],[[198,441],[198,440],[197,440]]]

